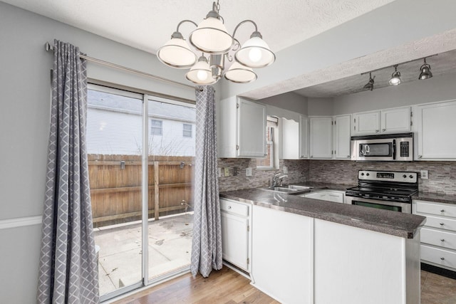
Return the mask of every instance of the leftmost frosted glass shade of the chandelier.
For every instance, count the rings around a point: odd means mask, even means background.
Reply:
[[[170,41],[158,49],[157,57],[173,68],[191,68],[197,62],[197,56],[178,31],[172,33]]]

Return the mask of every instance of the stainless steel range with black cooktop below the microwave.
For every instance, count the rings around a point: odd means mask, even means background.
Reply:
[[[418,192],[417,172],[358,172],[358,187],[346,189],[346,204],[412,213],[412,196]]]

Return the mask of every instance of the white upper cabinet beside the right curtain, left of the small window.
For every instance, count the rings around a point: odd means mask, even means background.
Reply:
[[[266,107],[245,98],[217,103],[218,157],[256,158],[266,155]]]

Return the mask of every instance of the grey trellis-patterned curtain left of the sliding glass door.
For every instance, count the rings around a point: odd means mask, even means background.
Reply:
[[[86,150],[87,75],[79,49],[54,41],[37,303],[99,303]]]

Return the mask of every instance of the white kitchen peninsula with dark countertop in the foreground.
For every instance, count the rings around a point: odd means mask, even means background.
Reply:
[[[220,196],[248,204],[252,285],[281,303],[420,303],[424,216],[266,189]]]

